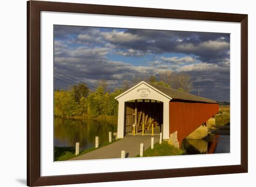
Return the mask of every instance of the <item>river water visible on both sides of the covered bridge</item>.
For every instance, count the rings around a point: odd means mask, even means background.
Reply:
[[[54,146],[75,147],[80,142],[80,150],[94,147],[95,136],[99,144],[108,142],[108,132],[117,132],[116,122],[99,120],[72,120],[55,117]],[[186,154],[229,153],[229,135],[216,135],[208,139],[184,139],[181,149]]]

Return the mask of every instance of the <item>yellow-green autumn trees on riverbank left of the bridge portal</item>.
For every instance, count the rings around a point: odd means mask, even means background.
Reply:
[[[67,90],[54,91],[54,115],[69,118],[81,116],[93,118],[99,115],[117,115],[118,101],[115,97],[122,89],[105,92],[103,86],[90,92],[85,84],[75,85]]]

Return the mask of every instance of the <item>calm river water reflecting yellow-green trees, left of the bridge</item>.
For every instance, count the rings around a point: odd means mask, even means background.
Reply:
[[[80,150],[88,149],[94,147],[95,136],[99,136],[99,144],[108,142],[110,131],[117,132],[116,122],[55,117],[54,146],[75,147],[75,142],[80,142]]]

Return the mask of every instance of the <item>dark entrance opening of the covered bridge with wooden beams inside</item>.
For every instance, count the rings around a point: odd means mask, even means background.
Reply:
[[[161,101],[127,101],[124,115],[124,134],[160,134],[163,131],[163,102]]]

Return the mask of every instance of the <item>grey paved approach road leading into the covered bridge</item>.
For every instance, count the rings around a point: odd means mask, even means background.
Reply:
[[[144,144],[144,150],[151,146],[151,137],[154,137],[154,144],[159,142],[159,135],[130,135],[118,140],[108,146],[101,147],[87,154],[74,157],[70,160],[95,160],[121,158],[121,151],[125,150],[126,158],[135,157],[140,154],[140,144]]]

